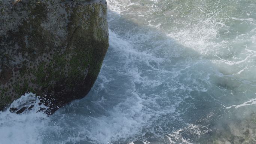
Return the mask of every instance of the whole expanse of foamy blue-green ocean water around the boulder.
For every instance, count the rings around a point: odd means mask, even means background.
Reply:
[[[107,3],[110,46],[89,94],[49,117],[0,112],[0,144],[256,143],[255,0]]]

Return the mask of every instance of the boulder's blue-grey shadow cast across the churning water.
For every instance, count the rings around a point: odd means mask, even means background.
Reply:
[[[45,135],[45,144],[215,143],[254,117],[255,107],[227,109],[253,98],[252,87],[241,92],[252,83],[222,73],[211,59],[162,31],[110,10],[109,30],[110,47],[94,87],[51,117],[61,129]]]

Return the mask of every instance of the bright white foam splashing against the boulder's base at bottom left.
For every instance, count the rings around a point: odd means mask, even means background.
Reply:
[[[0,111],[0,143],[1,144],[41,144],[40,132],[45,129],[49,122],[47,114],[37,112],[40,108],[39,99],[34,94],[29,93],[15,100],[10,107],[24,107],[31,105],[34,107],[30,111],[22,114],[11,113],[8,109]]]

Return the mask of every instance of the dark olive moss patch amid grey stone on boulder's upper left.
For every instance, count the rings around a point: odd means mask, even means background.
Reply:
[[[29,1],[26,10],[30,11],[28,19],[22,22],[19,27],[18,43],[21,46],[21,52],[23,56],[28,55],[30,59],[36,59],[38,54],[50,52],[54,47],[52,39],[54,37],[51,32],[42,28],[41,24],[47,17],[47,9],[44,3],[40,1]],[[27,38],[25,40],[25,37]],[[28,41],[29,45],[26,45],[25,41]]]

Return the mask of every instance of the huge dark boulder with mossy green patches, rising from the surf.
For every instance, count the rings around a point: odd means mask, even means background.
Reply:
[[[25,92],[49,114],[83,98],[108,43],[105,0],[0,1],[0,110]]]

